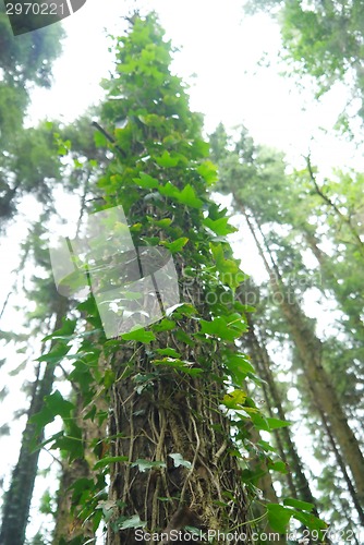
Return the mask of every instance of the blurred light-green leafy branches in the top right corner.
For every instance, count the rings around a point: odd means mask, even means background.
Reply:
[[[343,82],[351,96],[342,113],[364,118],[364,8],[361,0],[304,2],[302,0],[247,1],[248,12],[264,10],[280,25],[283,59],[296,74],[310,74],[317,88],[316,97]],[[351,104],[352,102],[352,104]]]

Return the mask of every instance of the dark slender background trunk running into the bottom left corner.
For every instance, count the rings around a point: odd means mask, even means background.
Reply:
[[[61,328],[66,307],[66,299],[59,296],[54,331]],[[56,342],[52,341],[51,348]],[[54,365],[47,363],[44,376],[37,379],[31,408],[27,413],[27,423],[23,432],[19,460],[12,473],[10,488],[5,494],[0,533],[1,545],[23,545],[25,541],[25,531],[28,523],[40,452],[39,449],[34,450],[34,445],[39,445],[44,440],[44,428],[40,433],[36,434],[36,426],[31,422],[31,419],[43,409],[45,397],[51,393],[53,379]]]

